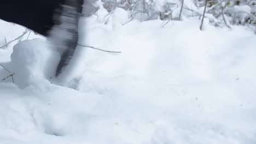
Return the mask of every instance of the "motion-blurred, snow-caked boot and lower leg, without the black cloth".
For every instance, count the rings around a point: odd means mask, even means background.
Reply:
[[[50,32],[50,38],[61,52],[61,60],[56,76],[71,60],[78,43],[78,21],[82,14],[83,0],[64,0],[55,13],[56,25]]]

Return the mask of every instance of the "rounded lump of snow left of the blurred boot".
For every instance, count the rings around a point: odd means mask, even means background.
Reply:
[[[16,44],[7,68],[14,73],[15,84],[25,88],[49,80],[56,71],[60,56],[44,39],[25,40]]]

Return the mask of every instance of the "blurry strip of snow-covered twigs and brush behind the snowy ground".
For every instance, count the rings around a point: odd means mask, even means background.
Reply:
[[[209,19],[211,25],[229,28],[229,25],[242,25],[247,26],[252,31],[254,31],[256,25],[255,0],[103,0],[92,5],[88,4],[85,13],[93,15],[102,6],[109,13],[104,17],[105,23],[108,22],[108,17],[114,13],[115,8],[122,8],[129,11],[129,18],[131,20],[147,21],[160,19],[165,23],[172,20],[182,20],[185,17],[198,17],[201,20],[203,10],[206,7],[205,17]]]

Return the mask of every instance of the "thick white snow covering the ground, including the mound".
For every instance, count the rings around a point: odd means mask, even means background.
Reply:
[[[78,47],[66,87],[39,36],[0,50],[0,143],[256,143],[253,32],[119,13],[81,19],[80,44],[121,53]],[[1,44],[24,32],[0,27]]]

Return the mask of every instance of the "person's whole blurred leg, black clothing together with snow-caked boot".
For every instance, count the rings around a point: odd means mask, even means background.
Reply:
[[[0,2],[0,19],[18,23],[48,37],[61,53],[59,75],[78,42],[83,0],[12,0]]]

